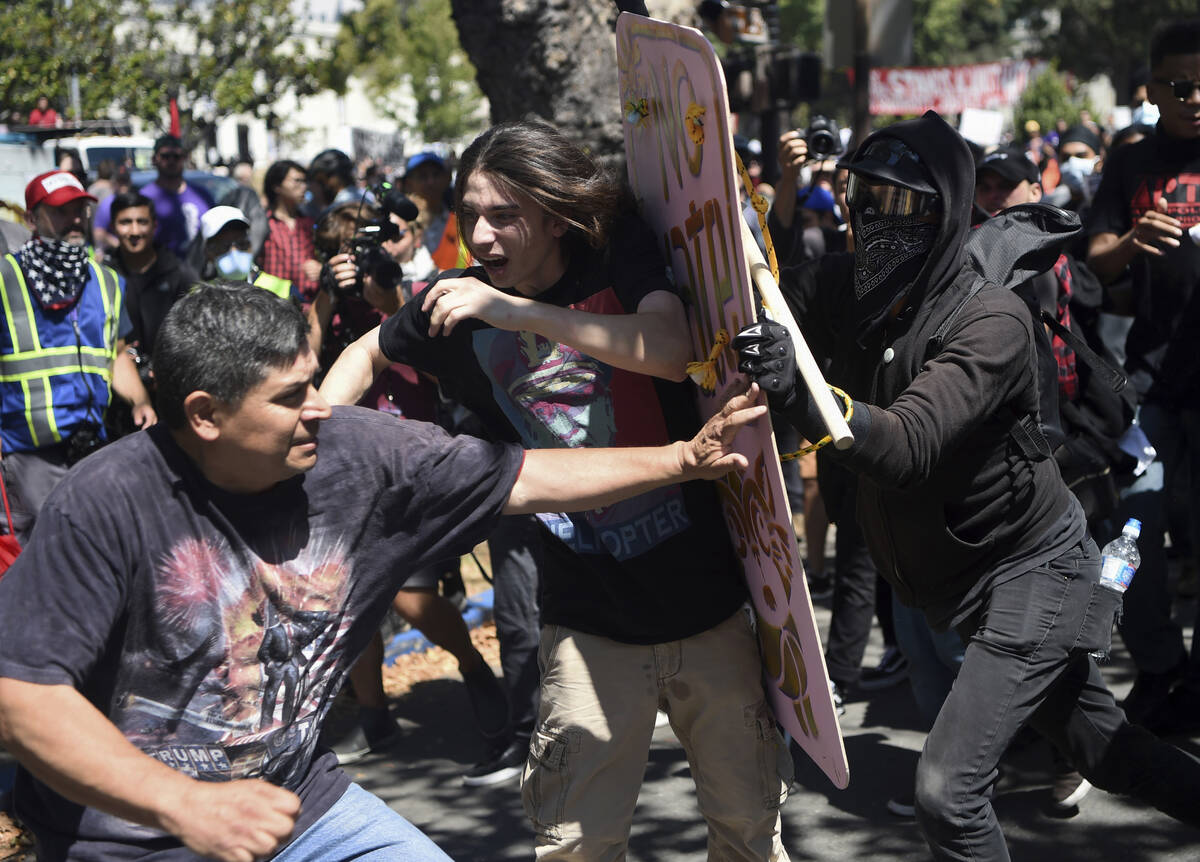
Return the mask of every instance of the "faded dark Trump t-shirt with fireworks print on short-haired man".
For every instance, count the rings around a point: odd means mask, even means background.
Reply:
[[[300,834],[348,785],[316,752],[342,678],[407,573],[487,537],[523,456],[335,408],[312,471],[234,495],[162,425],[127,437],[68,474],[0,581],[0,676],[78,688],[200,780],[295,791]],[[25,772],[17,806],[43,860],[194,857]]]

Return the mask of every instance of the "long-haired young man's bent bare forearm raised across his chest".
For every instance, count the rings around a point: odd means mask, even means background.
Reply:
[[[538,333],[625,371],[682,381],[691,340],[679,298],[653,291],[632,315],[593,315],[497,291],[479,279],[442,279],[421,294],[430,336],[449,335],[468,318],[498,329]]]

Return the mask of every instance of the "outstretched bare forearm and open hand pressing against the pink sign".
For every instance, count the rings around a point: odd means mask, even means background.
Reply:
[[[690,441],[662,447],[620,449],[536,449],[526,453],[506,515],[534,511],[583,511],[611,505],[646,491],[692,479],[719,479],[745,469],[733,438],[767,413],[755,405],[758,387],[730,399]]]

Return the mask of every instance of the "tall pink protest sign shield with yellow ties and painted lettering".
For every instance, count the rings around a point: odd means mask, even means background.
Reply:
[[[706,359],[756,317],[725,76],[697,30],[628,13],[617,22],[617,65],[629,178],[689,301],[695,355]],[[746,385],[736,365],[732,351],[719,352],[715,390],[701,395],[704,415]],[[768,698],[780,725],[845,788],[846,750],[770,424],[748,429],[738,444],[750,468],[719,484],[757,611]]]

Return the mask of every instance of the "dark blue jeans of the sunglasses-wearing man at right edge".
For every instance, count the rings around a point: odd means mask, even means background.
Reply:
[[[1117,507],[1120,528],[1126,519],[1141,520],[1138,550],[1141,565],[1124,597],[1121,636],[1138,670],[1165,674],[1178,666],[1184,656],[1183,631],[1171,619],[1171,597],[1166,589],[1166,486],[1170,477],[1189,467],[1189,503],[1193,549],[1200,547],[1200,409],[1171,411],[1159,405],[1142,405],[1142,431],[1158,450],[1158,460],[1146,468],[1121,495]],[[1108,539],[1102,539],[1106,541]],[[1200,611],[1198,611],[1200,630]],[[1192,639],[1190,674],[1200,677],[1200,639]]]

